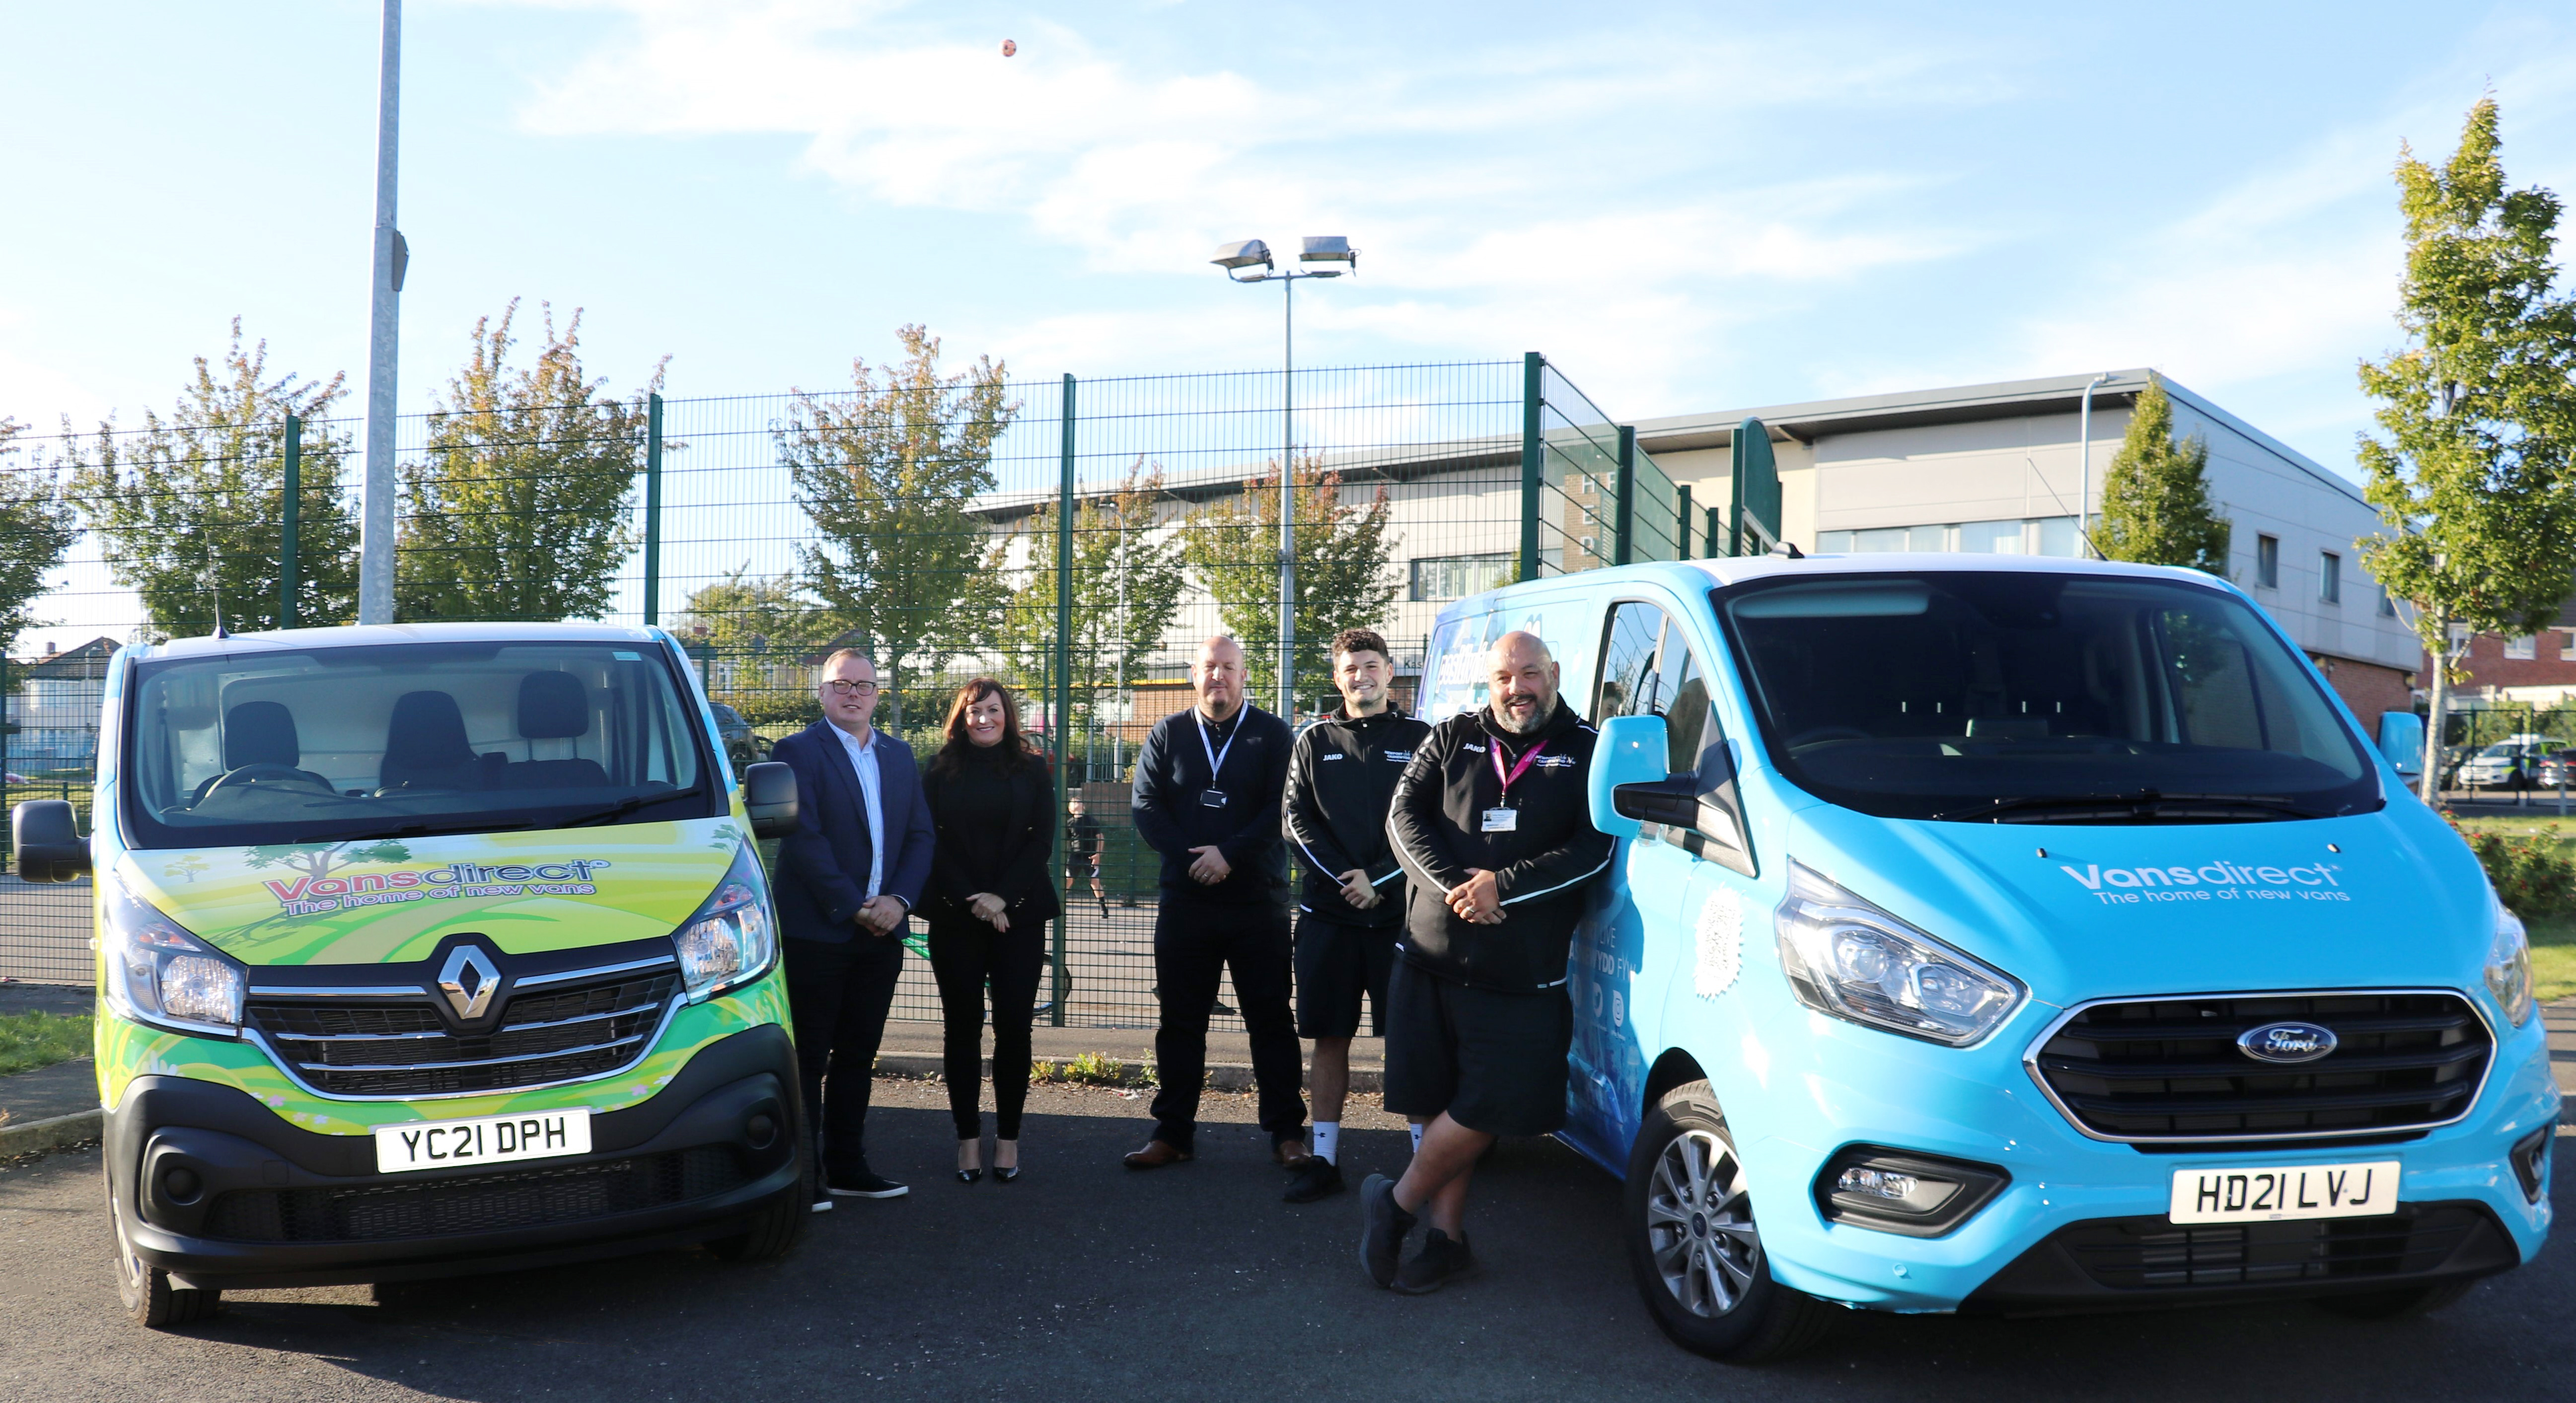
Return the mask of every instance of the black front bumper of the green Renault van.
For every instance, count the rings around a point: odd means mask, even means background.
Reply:
[[[592,1115],[587,1156],[376,1174],[368,1135],[301,1130],[232,1086],[139,1076],[108,1112],[106,1161],[144,1264],[188,1287],[312,1287],[726,1238],[799,1194],[801,1138],[796,1050],[762,1025],[708,1043],[654,1097]],[[188,1169],[185,1202],[173,1169]]]

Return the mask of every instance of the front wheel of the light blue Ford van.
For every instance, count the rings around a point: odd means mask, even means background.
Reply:
[[[1690,1197],[1692,1166],[1700,1166],[1708,1192],[1685,1207],[1677,1200]],[[1770,1274],[1752,1194],[1744,1192],[1744,1161],[1708,1081],[1674,1086],[1646,1112],[1628,1151],[1625,1197],[1620,1225],[1636,1292],[1682,1349],[1728,1364],[1767,1364],[1832,1331],[1832,1305]],[[1736,1228],[1708,1231],[1710,1220]]]

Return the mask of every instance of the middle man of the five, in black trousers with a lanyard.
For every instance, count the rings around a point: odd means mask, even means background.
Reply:
[[[1262,1130],[1278,1164],[1306,1158],[1296,1019],[1288,1014],[1288,855],[1280,793],[1288,723],[1244,705],[1244,649],[1208,638],[1190,664],[1198,705],[1164,716],[1136,754],[1136,837],[1162,855],[1154,909],[1154,1138],[1128,1169],[1195,1153],[1198,1092],[1208,1073],[1208,1012],[1234,971],[1252,1035]]]

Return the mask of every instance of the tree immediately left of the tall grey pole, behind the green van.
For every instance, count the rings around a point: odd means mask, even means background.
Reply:
[[[343,378],[268,376],[268,342],[242,350],[242,319],[222,368],[196,378],[170,417],[113,420],[70,438],[72,502],[106,546],[108,574],[142,595],[152,628],[211,633],[216,608],[234,633],[278,626],[286,507],[286,417],[304,420],[296,487],[296,623],[358,615],[358,515],[340,487],[350,432],[327,422]]]

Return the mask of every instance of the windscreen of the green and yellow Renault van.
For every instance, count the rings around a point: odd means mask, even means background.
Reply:
[[[255,847],[726,811],[652,644],[379,644],[144,662],[134,847]]]

